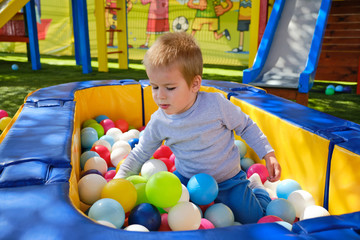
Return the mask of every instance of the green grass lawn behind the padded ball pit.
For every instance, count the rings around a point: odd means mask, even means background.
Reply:
[[[82,68],[75,65],[74,57],[42,55],[42,69],[33,71],[25,54],[0,53],[0,109],[13,116],[30,92],[48,86],[88,80],[147,79],[141,61],[130,60],[128,70],[120,70],[116,61],[109,61],[107,73],[98,72],[97,61],[93,59],[93,72],[82,74]],[[13,71],[12,64],[17,64],[19,70]],[[241,82],[244,68],[246,67],[205,65],[203,78]],[[309,94],[309,107],[360,124],[360,95],[355,94],[356,85],[351,85],[351,94],[336,93],[327,96],[324,92],[328,84],[315,82]]]

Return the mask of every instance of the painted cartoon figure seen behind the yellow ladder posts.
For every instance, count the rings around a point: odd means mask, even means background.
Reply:
[[[116,29],[116,20],[117,20],[117,11],[116,9],[107,9],[107,8],[116,8],[116,1],[117,0],[106,0],[105,5],[105,22],[106,28],[110,28],[112,30]],[[126,11],[129,13],[132,9],[132,2],[130,0],[126,1]],[[109,43],[107,44],[108,47],[114,47],[114,32],[109,32]],[[129,48],[133,46],[128,45]]]

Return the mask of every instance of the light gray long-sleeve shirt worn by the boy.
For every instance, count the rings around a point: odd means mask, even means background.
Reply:
[[[163,140],[176,156],[175,167],[184,177],[207,173],[217,182],[240,170],[240,154],[234,131],[262,159],[274,151],[266,136],[249,116],[220,93],[199,92],[194,105],[181,114],[167,115],[158,109],[147,124],[139,144],[116,175],[138,174]]]

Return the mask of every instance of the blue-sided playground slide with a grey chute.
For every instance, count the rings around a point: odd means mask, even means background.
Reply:
[[[311,89],[331,0],[277,0],[252,68],[243,83],[259,87]]]

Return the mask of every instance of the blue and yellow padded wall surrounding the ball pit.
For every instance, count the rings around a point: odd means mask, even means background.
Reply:
[[[360,239],[360,126],[267,94],[251,86],[204,80],[256,121],[282,166],[332,216],[188,232],[138,233],[111,229],[83,215],[81,124],[101,114],[145,125],[156,105],[148,81],[72,82],[30,93],[0,136],[1,236],[57,239]],[[14,151],[16,149],[16,151]],[[249,149],[248,156],[259,162]]]

